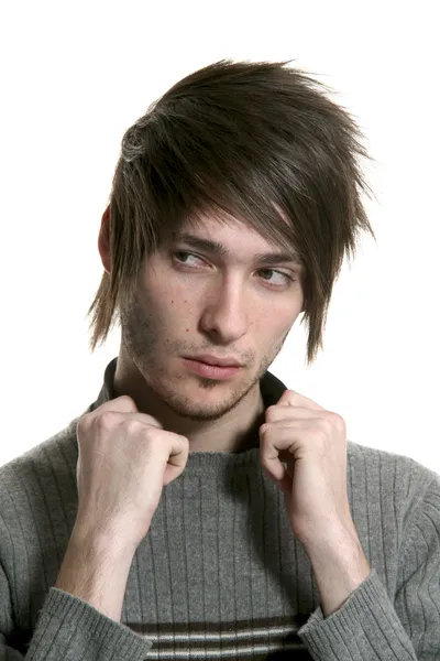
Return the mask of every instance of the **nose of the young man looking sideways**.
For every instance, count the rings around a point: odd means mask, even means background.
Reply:
[[[224,277],[211,285],[206,293],[200,326],[223,344],[237,342],[248,332],[249,294],[237,278]]]

